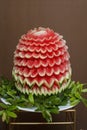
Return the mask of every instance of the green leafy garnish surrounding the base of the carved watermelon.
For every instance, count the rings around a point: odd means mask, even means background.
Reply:
[[[87,99],[84,93],[87,92],[84,84],[71,81],[67,88],[61,93],[55,95],[33,95],[23,94],[15,87],[13,80],[6,78],[0,79],[0,98],[6,100],[6,104],[0,103],[0,116],[2,121],[9,122],[10,118],[17,118],[16,111],[18,107],[32,108],[36,107],[36,111],[42,112],[42,116],[47,122],[52,121],[51,113],[59,113],[59,106],[65,106],[70,103],[71,106],[77,105],[80,101],[87,107]]]

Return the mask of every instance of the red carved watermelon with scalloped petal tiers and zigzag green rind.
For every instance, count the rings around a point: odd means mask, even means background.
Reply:
[[[35,28],[21,36],[14,52],[12,74],[23,93],[56,94],[71,78],[66,41],[49,28]]]

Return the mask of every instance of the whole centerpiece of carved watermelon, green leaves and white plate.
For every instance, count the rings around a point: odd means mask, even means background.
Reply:
[[[87,88],[72,81],[69,58],[63,36],[49,28],[35,28],[22,35],[14,52],[13,80],[0,79],[2,121],[16,118],[15,110],[27,110],[42,112],[51,122],[51,113],[80,101],[87,107]]]

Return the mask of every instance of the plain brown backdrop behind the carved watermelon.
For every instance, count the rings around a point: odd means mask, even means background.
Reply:
[[[0,75],[11,78],[18,39],[38,26],[50,27],[64,36],[71,55],[72,79],[87,82],[87,0],[0,0]],[[86,122],[87,109],[80,104],[77,130],[86,130]],[[0,124],[4,130],[6,125]]]

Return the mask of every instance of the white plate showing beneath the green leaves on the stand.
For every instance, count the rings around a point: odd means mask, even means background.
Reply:
[[[4,98],[1,98],[1,101],[5,104],[10,104],[8,103]],[[74,106],[70,105],[70,102],[68,102],[65,106],[59,106],[59,111],[64,111],[64,110],[67,110],[67,109],[70,109]],[[18,106],[18,109],[19,110],[22,110],[22,111],[28,111],[28,112],[36,112],[36,107],[32,107],[32,108],[26,108],[26,107],[19,107]]]

